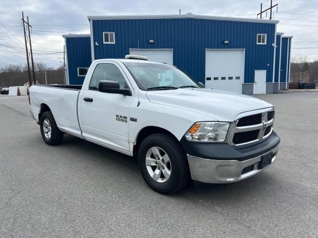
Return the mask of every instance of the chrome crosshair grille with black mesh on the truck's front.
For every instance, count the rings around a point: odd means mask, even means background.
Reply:
[[[257,110],[258,113],[238,117],[231,126],[228,143],[244,145],[261,141],[272,132],[275,111],[272,109]]]

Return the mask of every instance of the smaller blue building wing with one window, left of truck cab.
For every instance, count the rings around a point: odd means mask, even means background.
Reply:
[[[90,35],[63,35],[66,52],[66,79],[68,84],[83,84],[91,64]]]

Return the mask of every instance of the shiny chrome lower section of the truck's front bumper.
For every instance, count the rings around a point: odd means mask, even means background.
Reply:
[[[263,170],[267,169],[271,164],[263,169],[258,169],[261,157],[267,153],[273,152],[273,163],[276,160],[278,146],[255,158],[238,161],[238,160],[209,160],[187,155],[190,167],[191,178],[200,182],[208,183],[232,183],[252,177]],[[253,170],[242,174],[244,168],[254,165]]]

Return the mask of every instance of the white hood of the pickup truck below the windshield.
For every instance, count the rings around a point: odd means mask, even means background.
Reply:
[[[148,91],[146,95],[152,103],[197,112],[219,121],[234,121],[240,113],[273,107],[250,96],[207,88]]]

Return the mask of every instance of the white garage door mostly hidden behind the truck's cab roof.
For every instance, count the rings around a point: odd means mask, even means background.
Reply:
[[[137,49],[130,49],[131,55],[138,55]],[[147,56],[149,61],[173,65],[172,49],[139,49],[140,56]]]

